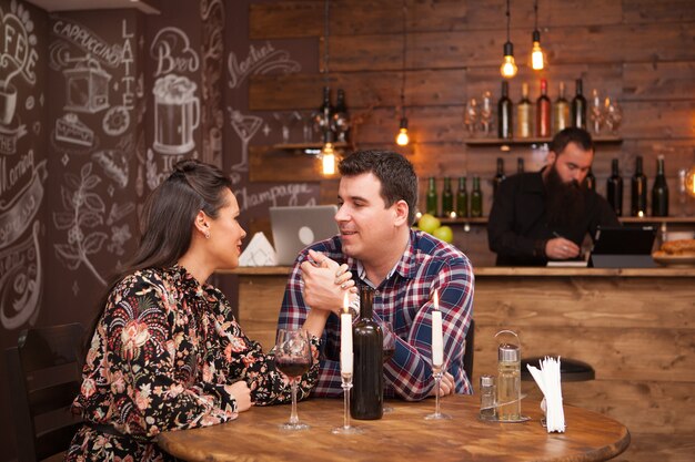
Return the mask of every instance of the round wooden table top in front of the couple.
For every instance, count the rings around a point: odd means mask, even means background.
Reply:
[[[477,397],[442,400],[450,421],[425,421],[434,410],[423,402],[390,401],[393,413],[376,421],[353,421],[362,435],[334,435],[343,422],[342,400],[312,399],[299,403],[304,432],[281,432],[289,405],[253,408],[238,420],[205,429],[167,432],[159,445],[187,461],[604,461],[625,451],[629,432],[596,412],[565,407],[565,433],[547,433],[537,401],[524,400],[524,423],[482,422]]]

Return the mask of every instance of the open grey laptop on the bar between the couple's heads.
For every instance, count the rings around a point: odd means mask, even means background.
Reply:
[[[278,265],[290,266],[304,247],[335,236],[335,205],[270,207]]]

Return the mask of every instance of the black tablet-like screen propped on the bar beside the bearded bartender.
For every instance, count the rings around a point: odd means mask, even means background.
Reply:
[[[594,268],[654,268],[654,226],[604,226],[596,229],[590,265]]]

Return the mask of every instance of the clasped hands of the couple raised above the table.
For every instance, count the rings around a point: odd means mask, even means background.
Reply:
[[[339,265],[314,250],[309,250],[309,256],[311,259],[301,266],[304,301],[311,308],[340,315],[345,292],[354,292],[355,286],[348,265]]]

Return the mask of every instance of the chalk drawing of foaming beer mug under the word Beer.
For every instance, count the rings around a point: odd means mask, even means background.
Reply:
[[[185,76],[168,74],[154,83],[154,150],[183,154],[195,147],[193,131],[200,123],[198,85]]]

